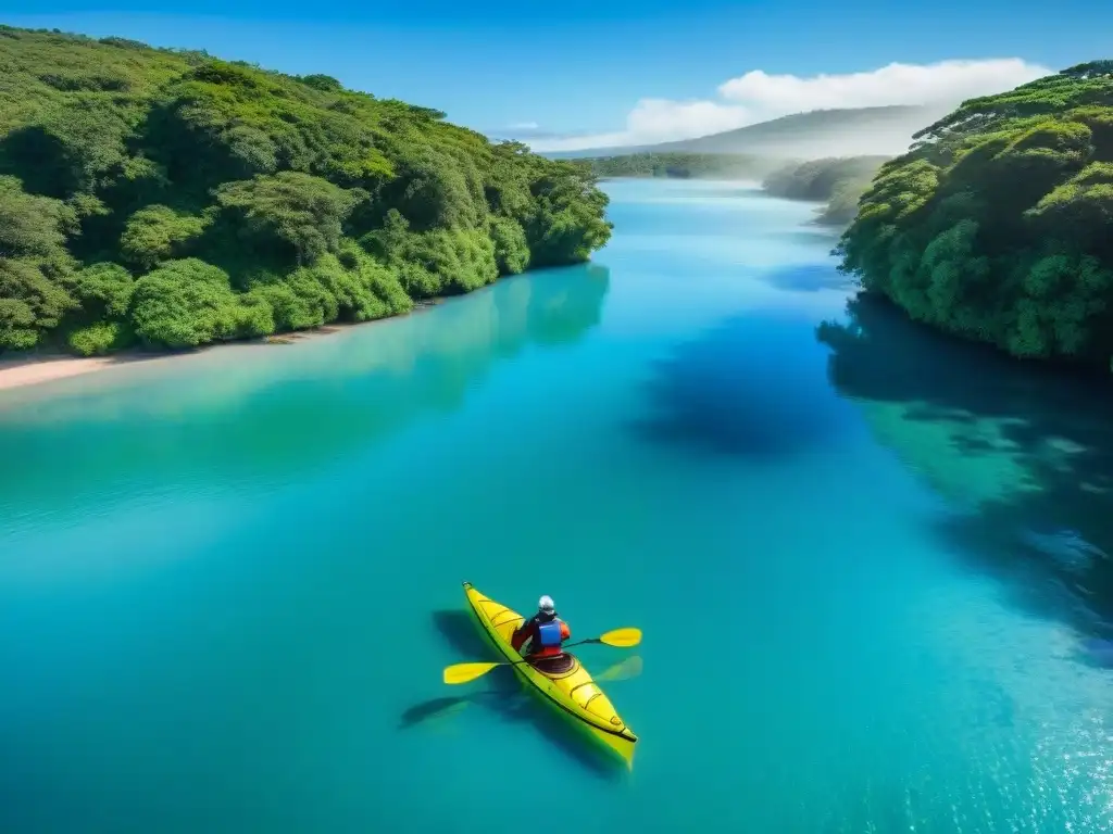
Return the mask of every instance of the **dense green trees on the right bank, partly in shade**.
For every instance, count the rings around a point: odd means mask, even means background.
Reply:
[[[881,167],[840,269],[1025,359],[1113,360],[1113,61],[965,101]]]

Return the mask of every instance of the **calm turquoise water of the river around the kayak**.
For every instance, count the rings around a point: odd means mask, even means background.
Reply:
[[[590,266],[0,394],[0,830],[1113,828],[1106,404],[607,187]],[[463,580],[644,631],[632,773],[441,683]]]

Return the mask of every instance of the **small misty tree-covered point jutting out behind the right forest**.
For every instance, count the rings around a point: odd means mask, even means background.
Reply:
[[[858,200],[888,157],[829,157],[778,168],[761,183],[775,197],[827,205],[816,222],[845,226],[858,211]]]

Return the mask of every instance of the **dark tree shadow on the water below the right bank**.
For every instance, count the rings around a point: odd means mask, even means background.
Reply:
[[[859,296],[825,322],[828,376],[954,508],[933,533],[1020,609],[1113,634],[1107,375],[1021,363]]]

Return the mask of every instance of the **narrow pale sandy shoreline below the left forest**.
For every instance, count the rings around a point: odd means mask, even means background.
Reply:
[[[443,298],[429,299],[414,305],[414,308],[401,316],[387,316],[372,321],[332,322],[312,330],[294,330],[292,332],[274,334],[257,339],[238,339],[204,345],[193,350],[140,350],[128,349],[108,356],[73,356],[63,353],[24,354],[6,358],[0,355],[0,393],[17,388],[53,383],[60,379],[85,376],[109,368],[139,365],[150,361],[178,359],[223,347],[253,345],[260,347],[293,345],[306,339],[321,339],[348,330],[353,327],[378,325],[413,316],[441,305]]]

